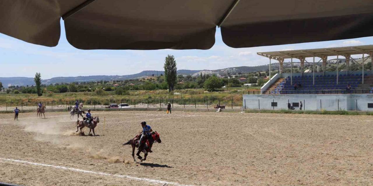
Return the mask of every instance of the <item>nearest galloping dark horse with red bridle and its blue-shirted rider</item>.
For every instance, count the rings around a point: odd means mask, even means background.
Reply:
[[[133,138],[132,140],[128,140],[126,143],[124,143],[123,145],[129,145],[131,144],[132,146],[132,157],[134,158],[134,161],[136,162],[136,159],[135,159],[135,147],[138,147],[137,150],[137,157],[141,160],[141,161],[145,161],[146,160],[146,157],[148,156],[148,153],[152,153],[153,151],[151,151],[151,147],[153,146],[153,143],[154,142],[158,142],[158,143],[161,143],[161,139],[159,137],[159,134],[157,133],[157,131],[153,131],[153,129],[151,129],[151,127],[149,125],[146,124],[145,121],[141,122],[141,127],[142,127],[142,131],[139,135],[136,135],[135,138]],[[144,153],[144,158],[142,158],[140,156],[140,153],[143,152]]]

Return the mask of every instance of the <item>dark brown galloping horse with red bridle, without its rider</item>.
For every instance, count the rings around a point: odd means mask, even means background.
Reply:
[[[127,142],[123,143],[122,145],[129,145],[131,144],[132,146],[132,157],[134,158],[134,161],[136,162],[136,159],[135,159],[135,147],[138,147],[139,146],[139,135],[137,135],[136,137],[134,137],[133,139],[131,140],[128,140]],[[149,145],[147,144],[147,142],[149,142]],[[149,138],[148,140],[145,140],[145,142],[141,145],[140,148],[138,148],[138,152],[137,152],[137,158],[139,158],[141,161],[145,161],[146,160],[146,157],[148,156],[148,153],[149,153],[149,150],[153,143],[154,142],[158,142],[158,143],[161,143],[161,139],[159,138],[159,134],[156,132],[153,132],[151,134],[151,138]],[[140,156],[140,153],[143,152],[144,153],[144,158],[142,158]]]

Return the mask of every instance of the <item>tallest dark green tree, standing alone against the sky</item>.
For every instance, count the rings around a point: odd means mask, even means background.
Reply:
[[[173,87],[176,84],[176,67],[175,57],[173,55],[167,55],[166,60],[164,60],[164,78],[168,84],[168,91],[173,91]],[[161,74],[162,76],[162,74]]]

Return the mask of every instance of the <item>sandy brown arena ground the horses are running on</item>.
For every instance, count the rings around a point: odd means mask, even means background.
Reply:
[[[372,116],[93,112],[100,136],[89,137],[75,135],[67,112],[35,115],[21,113],[19,121],[0,115],[0,180],[30,186],[373,185]],[[144,120],[162,143],[147,161],[134,163],[131,146],[121,144]]]

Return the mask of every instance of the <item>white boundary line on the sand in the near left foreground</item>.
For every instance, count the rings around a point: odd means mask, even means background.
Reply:
[[[13,161],[13,162],[17,162],[17,163],[27,163],[27,164],[36,165],[36,166],[53,167],[53,168],[56,168],[56,169],[72,170],[72,171],[75,171],[75,172],[82,172],[82,173],[99,174],[99,175],[104,175],[104,176],[123,177],[123,178],[129,178],[129,179],[133,179],[133,180],[140,180],[140,181],[146,181],[146,182],[152,182],[152,183],[172,184],[172,185],[176,185],[176,186],[193,186],[193,185],[182,185],[182,184],[179,184],[179,183],[165,182],[165,181],[160,181],[160,180],[152,180],[152,179],[147,179],[147,178],[127,176],[127,175],[109,174],[109,173],[103,173],[103,172],[94,172],[94,171],[90,171],[90,170],[75,169],[75,168],[70,168],[70,167],[54,166],[54,165],[41,164],[41,163],[32,163],[32,162],[29,162],[29,161],[13,160],[13,159],[8,159],[8,158],[0,158],[0,160]]]

